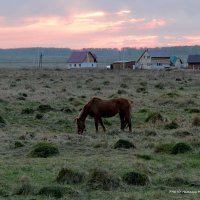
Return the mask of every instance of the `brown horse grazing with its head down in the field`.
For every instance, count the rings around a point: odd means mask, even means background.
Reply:
[[[121,120],[121,130],[126,126],[131,129],[131,104],[125,98],[115,98],[110,100],[103,100],[98,97],[93,97],[81,110],[79,116],[76,118],[78,134],[82,134],[85,130],[85,119],[89,115],[94,118],[96,132],[98,132],[98,124],[100,123],[103,130],[106,128],[103,124],[102,117],[113,117],[119,113]]]

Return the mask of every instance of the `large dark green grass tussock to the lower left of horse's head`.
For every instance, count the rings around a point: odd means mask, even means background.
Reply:
[[[38,143],[30,153],[31,157],[47,158],[59,154],[58,148],[52,143]]]

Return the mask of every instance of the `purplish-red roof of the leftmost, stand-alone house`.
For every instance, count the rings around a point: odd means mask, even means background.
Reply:
[[[87,59],[87,55],[91,54],[94,58],[94,62],[97,62],[96,55],[92,54],[90,51],[76,51],[73,52],[70,58],[67,60],[68,63],[82,63]]]

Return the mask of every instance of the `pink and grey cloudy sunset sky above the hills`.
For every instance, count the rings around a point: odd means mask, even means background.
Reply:
[[[199,0],[0,0],[0,48],[200,45]]]

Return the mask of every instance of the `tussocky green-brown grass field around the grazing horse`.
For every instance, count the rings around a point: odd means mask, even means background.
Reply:
[[[0,91],[0,199],[200,198],[200,72],[1,69]],[[133,132],[78,135],[93,96],[127,97]]]

